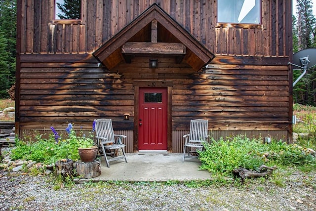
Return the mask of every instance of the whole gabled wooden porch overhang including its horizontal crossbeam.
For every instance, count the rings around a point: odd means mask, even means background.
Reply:
[[[93,56],[111,70],[131,56],[174,56],[195,71],[215,56],[170,17],[158,4],[147,10],[98,48]]]

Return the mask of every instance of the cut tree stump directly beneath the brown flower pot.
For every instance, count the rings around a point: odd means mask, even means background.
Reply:
[[[77,170],[77,175],[83,179],[97,177],[101,174],[101,163],[100,161],[93,162],[75,162],[75,169]]]

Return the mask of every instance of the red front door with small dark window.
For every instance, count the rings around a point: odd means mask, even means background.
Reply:
[[[139,150],[167,150],[167,88],[139,88]]]

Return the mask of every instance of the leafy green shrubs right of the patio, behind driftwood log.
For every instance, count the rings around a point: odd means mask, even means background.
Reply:
[[[315,165],[316,159],[298,145],[288,145],[273,140],[271,144],[246,136],[235,136],[229,140],[212,140],[204,144],[205,150],[199,152],[201,169],[210,171],[215,177],[232,177],[233,169],[243,167],[257,170],[266,166]]]

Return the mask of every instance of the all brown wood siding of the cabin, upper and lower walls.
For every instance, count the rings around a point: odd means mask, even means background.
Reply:
[[[156,2],[215,59],[194,71],[173,57],[132,57],[111,71],[91,55]],[[181,152],[190,119],[214,137],[247,133],[287,140],[291,131],[291,1],[262,0],[261,25],[216,22],[216,0],[82,0],[82,20],[53,21],[54,0],[18,0],[17,119],[20,135],[67,122],[89,130],[113,119],[133,152],[135,81],[168,81],[171,150]],[[148,36],[148,35],[145,35]],[[130,114],[128,121],[124,113]]]

